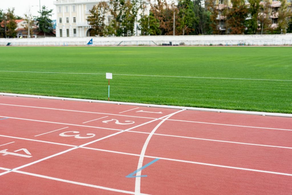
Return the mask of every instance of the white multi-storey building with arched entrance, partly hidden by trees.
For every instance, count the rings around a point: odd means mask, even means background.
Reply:
[[[87,22],[90,10],[94,5],[105,0],[56,0],[57,25],[56,37],[89,37],[91,25]],[[148,11],[149,13],[149,11]],[[140,10],[138,20],[140,19]],[[110,20],[110,17],[107,17]],[[109,21],[105,21],[107,24]],[[137,23],[135,23],[135,34],[138,35]]]

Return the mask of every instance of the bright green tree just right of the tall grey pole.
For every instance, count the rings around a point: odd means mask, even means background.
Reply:
[[[183,35],[192,31],[193,23],[198,20],[194,13],[194,4],[191,0],[179,0],[178,1],[179,18],[178,30],[181,30]]]

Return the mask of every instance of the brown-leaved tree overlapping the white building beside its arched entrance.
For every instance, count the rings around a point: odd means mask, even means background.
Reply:
[[[105,16],[109,11],[109,5],[106,2],[100,2],[97,6],[93,6],[90,10],[91,15],[88,16],[87,21],[93,28],[93,34],[98,34],[99,36],[105,36],[106,25]]]

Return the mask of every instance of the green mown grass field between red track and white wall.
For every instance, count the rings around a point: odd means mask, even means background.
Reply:
[[[292,47],[0,47],[0,92],[107,100],[106,72],[111,101],[292,113]]]

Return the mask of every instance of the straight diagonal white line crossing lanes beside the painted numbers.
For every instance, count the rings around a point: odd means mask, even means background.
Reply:
[[[168,115],[171,115],[171,114],[168,114]],[[148,124],[148,123],[151,123],[151,122],[154,122],[154,121],[160,120],[160,119],[162,119],[162,118],[167,117],[168,115],[165,115],[165,116],[163,116],[163,117],[160,117],[160,118],[157,118],[157,119],[154,119],[154,120],[150,120],[150,121],[148,121],[148,122],[144,122],[144,123],[142,123],[142,124],[140,124],[140,125],[136,125],[136,126],[134,126],[134,127],[130,127],[130,128],[128,128],[128,129],[126,129],[126,130],[119,131],[119,132],[114,133],[114,134],[107,135],[107,136],[105,136],[105,137],[102,137],[102,138],[96,139],[96,140],[94,140],[94,141],[90,141],[90,142],[85,143],[85,144],[82,144],[82,145],[80,145],[80,146],[77,146],[77,147],[74,147],[74,148],[70,148],[70,149],[67,149],[67,150],[62,151],[62,152],[59,152],[59,153],[55,153],[55,154],[53,154],[53,155],[51,155],[51,156],[47,156],[47,157],[45,157],[45,158],[41,158],[41,159],[39,159],[39,160],[37,160],[37,161],[34,161],[34,162],[31,162],[31,163],[28,163],[28,164],[22,165],[22,166],[20,166],[20,167],[14,168],[14,169],[12,169],[12,170],[10,170],[10,171],[2,172],[2,173],[0,173],[0,176],[1,176],[1,175],[5,175],[5,174],[7,174],[7,173],[9,173],[9,172],[11,172],[11,171],[15,171],[15,170],[18,170],[18,169],[21,169],[21,168],[24,168],[24,167],[27,167],[27,166],[33,165],[33,164],[35,164],[35,163],[39,163],[39,162],[44,161],[44,160],[47,160],[47,159],[49,159],[49,158],[53,158],[53,157],[55,157],[55,156],[59,156],[59,155],[61,155],[61,154],[67,153],[67,152],[72,151],[72,150],[75,150],[75,149],[77,149],[77,148],[79,148],[79,147],[87,146],[87,145],[92,144],[92,143],[95,143],[95,142],[97,142],[97,141],[100,141],[100,140],[106,139],[106,138],[108,138],[108,137],[112,137],[112,136],[115,136],[115,135],[117,135],[117,134],[120,134],[120,133],[122,133],[122,132],[126,132],[126,131],[132,130],[132,129],[134,129],[134,128],[140,127],[140,126],[142,126],[142,125],[146,125],[146,124]]]

